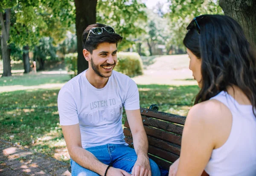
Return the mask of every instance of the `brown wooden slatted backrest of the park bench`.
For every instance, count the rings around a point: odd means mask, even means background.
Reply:
[[[148,156],[160,167],[169,169],[180,156],[181,135],[186,117],[140,108],[148,136]],[[132,134],[125,121],[125,141],[133,147]]]

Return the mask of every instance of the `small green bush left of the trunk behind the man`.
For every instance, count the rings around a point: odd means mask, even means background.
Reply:
[[[77,52],[65,55],[64,58],[67,71],[71,72],[71,78],[77,75]]]

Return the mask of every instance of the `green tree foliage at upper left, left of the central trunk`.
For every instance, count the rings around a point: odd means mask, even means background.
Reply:
[[[74,21],[75,7],[70,0],[4,0],[1,7],[12,8],[9,43],[19,47],[35,46],[44,36],[59,42]]]

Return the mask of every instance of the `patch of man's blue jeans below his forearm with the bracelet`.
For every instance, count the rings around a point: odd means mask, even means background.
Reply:
[[[98,173],[95,173],[89,169],[81,167],[79,164],[72,160],[71,162],[71,175],[72,176],[99,176]]]

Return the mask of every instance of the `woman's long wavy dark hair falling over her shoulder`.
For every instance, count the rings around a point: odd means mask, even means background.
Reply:
[[[202,59],[201,90],[195,104],[207,101],[228,86],[237,86],[256,107],[256,54],[243,29],[225,15],[204,15],[189,29],[183,44]],[[255,111],[253,110],[254,115]]]

